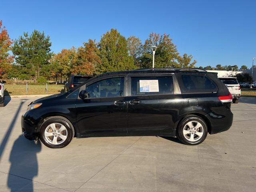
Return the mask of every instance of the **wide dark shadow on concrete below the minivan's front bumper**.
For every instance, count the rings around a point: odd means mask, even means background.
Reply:
[[[12,192],[33,192],[33,178],[38,175],[36,154],[41,150],[40,141],[29,141],[20,135],[15,140],[10,154],[8,187]]]

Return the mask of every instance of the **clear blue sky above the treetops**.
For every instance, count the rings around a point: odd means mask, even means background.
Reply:
[[[256,58],[256,0],[1,0],[0,20],[13,40],[44,31],[54,53],[116,28],[142,43],[170,34],[196,66],[251,67]]]

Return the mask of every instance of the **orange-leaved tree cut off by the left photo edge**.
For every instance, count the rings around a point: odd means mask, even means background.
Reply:
[[[11,68],[10,64],[13,62],[13,56],[10,56],[8,51],[11,50],[12,42],[0,20],[0,77],[4,76],[6,70],[10,70]]]

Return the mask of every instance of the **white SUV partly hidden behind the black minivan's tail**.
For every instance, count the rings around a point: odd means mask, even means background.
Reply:
[[[238,103],[241,97],[241,86],[235,77],[218,77],[224,83],[232,95],[233,103]]]

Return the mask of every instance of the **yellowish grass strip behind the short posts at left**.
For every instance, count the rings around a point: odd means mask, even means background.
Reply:
[[[46,85],[28,85],[28,94],[26,93],[26,85],[4,84],[4,95],[41,95],[41,94],[58,94],[64,91],[64,85],[48,85],[48,93],[46,93]]]

